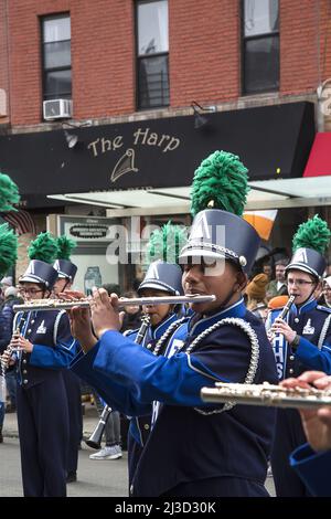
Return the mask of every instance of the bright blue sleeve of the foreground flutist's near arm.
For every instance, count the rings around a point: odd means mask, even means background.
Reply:
[[[103,335],[93,368],[128,388],[141,403],[158,400],[167,404],[209,406],[201,400],[201,389],[213,386],[215,380],[227,380],[215,374],[194,354],[156,357],[143,348],[137,348],[118,331]]]

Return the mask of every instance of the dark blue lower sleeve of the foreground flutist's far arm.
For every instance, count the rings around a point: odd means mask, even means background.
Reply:
[[[99,342],[86,354],[81,351],[73,360],[70,367],[71,370],[92,385],[111,409],[129,416],[150,414],[150,405],[140,404],[132,398],[127,388],[113,381],[109,375],[93,369],[98,349]]]

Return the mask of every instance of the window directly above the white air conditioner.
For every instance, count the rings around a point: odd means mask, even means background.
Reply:
[[[72,97],[71,18],[42,19],[43,98]]]

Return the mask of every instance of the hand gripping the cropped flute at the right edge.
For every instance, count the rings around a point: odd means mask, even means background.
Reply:
[[[319,390],[331,389],[331,377],[322,371],[306,371],[297,379],[284,380],[285,388],[311,388]],[[303,430],[308,442],[314,451],[331,448],[331,407],[323,406],[314,410],[300,410]]]

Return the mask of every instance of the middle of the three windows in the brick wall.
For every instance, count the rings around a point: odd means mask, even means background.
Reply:
[[[169,105],[168,0],[137,3],[137,104]]]

